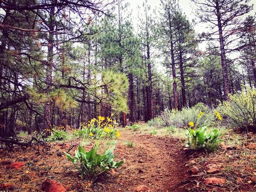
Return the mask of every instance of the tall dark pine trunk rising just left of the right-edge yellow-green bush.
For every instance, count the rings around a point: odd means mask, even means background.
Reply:
[[[220,56],[221,56],[221,66],[222,66],[222,75],[223,75],[223,91],[224,91],[224,99],[229,101],[229,77],[228,77],[228,69],[226,62],[226,54],[224,47],[224,38],[222,34],[222,23],[221,23],[221,14],[219,10],[219,1],[216,1],[216,13],[218,20],[218,28],[219,28],[219,44],[220,44]]]

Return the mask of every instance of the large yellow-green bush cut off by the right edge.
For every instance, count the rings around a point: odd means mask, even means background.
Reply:
[[[218,107],[229,126],[256,132],[256,89],[247,88],[246,93],[230,94],[229,98]]]

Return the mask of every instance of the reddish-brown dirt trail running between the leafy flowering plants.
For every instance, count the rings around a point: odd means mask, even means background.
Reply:
[[[121,142],[117,145],[115,153],[125,164],[118,171],[118,184],[109,191],[134,191],[138,185],[147,186],[151,192],[185,191],[179,188],[188,177],[181,141],[127,129],[121,135],[122,141],[132,141],[135,148],[124,147]]]

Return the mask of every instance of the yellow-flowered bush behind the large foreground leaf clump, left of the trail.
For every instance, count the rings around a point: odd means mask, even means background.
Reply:
[[[80,129],[74,130],[73,135],[76,138],[91,139],[112,139],[119,138],[120,132],[117,130],[118,124],[115,120],[99,116],[93,118],[88,123],[81,123]]]

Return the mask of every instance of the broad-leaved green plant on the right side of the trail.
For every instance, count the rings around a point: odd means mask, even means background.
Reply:
[[[207,126],[202,126],[196,129],[189,128],[186,131],[187,143],[186,147],[192,149],[205,148],[209,152],[216,151],[221,140],[217,129],[214,129],[209,134],[206,134]]]

